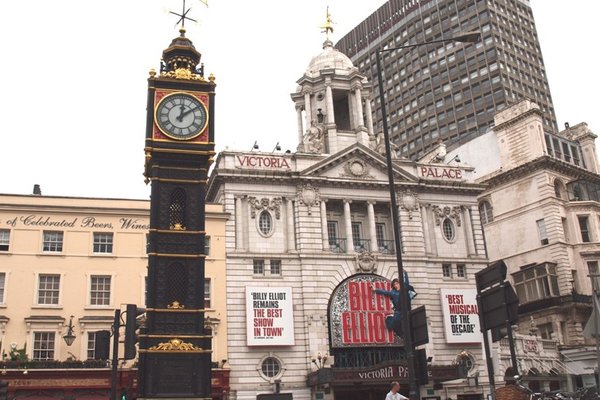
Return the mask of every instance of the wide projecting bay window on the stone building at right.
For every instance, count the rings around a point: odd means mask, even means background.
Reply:
[[[544,263],[523,268],[513,274],[521,304],[558,296],[556,264]]]

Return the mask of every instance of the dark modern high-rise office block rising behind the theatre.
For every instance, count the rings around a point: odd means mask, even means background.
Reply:
[[[528,0],[389,0],[344,36],[336,47],[373,82],[376,130],[376,51],[468,31],[481,32],[481,41],[385,53],[388,125],[403,156],[418,157],[439,139],[473,139],[493,126],[495,112],[523,98],[540,105],[546,130],[557,130]]]

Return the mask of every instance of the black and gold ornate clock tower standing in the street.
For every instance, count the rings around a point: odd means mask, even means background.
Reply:
[[[146,323],[139,399],[210,399],[204,330],[204,205],[214,156],[214,94],[200,53],[180,29],[150,71],[144,175],[152,185]]]

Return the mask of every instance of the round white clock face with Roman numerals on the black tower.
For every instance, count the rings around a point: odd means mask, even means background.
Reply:
[[[173,93],[158,103],[155,121],[168,137],[188,140],[204,131],[207,116],[206,107],[200,100],[186,93]]]

